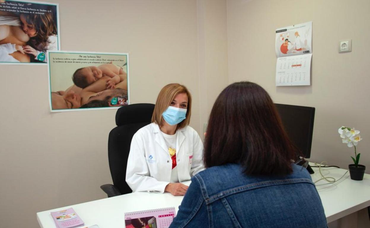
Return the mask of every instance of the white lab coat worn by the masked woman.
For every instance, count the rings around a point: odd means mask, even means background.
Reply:
[[[188,181],[204,169],[203,144],[190,126],[177,130],[176,167],[179,182]],[[170,183],[172,160],[156,123],[139,129],[132,137],[128,155],[126,182],[132,191],[164,193]]]

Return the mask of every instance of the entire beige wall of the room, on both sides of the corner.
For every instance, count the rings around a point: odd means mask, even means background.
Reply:
[[[345,168],[352,150],[336,131],[360,129],[369,172],[369,1],[49,1],[60,4],[62,50],[129,53],[132,103],[154,103],[163,85],[182,83],[201,134],[223,87],[257,82],[275,102],[316,107],[312,161]],[[306,21],[313,21],[312,85],[277,88],[275,29]],[[352,52],[339,54],[344,38]],[[111,183],[115,110],[50,113],[47,67],[0,65],[0,72],[1,227],[36,228],[38,211],[105,198],[99,186]]]

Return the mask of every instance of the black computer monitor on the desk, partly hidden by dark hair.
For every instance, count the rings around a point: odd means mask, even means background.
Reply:
[[[297,105],[275,105],[290,140],[303,153],[305,158],[309,158],[311,155],[315,108]]]

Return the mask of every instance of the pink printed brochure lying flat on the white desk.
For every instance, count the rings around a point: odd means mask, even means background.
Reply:
[[[73,208],[51,212],[51,216],[58,228],[77,227],[84,224]]]

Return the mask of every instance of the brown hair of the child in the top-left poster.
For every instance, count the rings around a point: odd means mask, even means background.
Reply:
[[[34,28],[36,29],[36,36],[31,37],[31,39],[36,41],[36,46],[41,44],[43,48],[46,47],[49,36],[57,35],[57,26],[54,23],[53,15],[51,13],[22,13],[21,15],[24,15],[27,23],[33,24]]]

